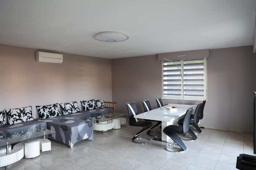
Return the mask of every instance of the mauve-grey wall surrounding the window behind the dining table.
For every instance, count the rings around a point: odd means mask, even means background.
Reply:
[[[112,100],[116,111],[127,112],[126,102],[135,101],[143,111],[142,100],[156,108],[161,97],[161,61],[157,55],[112,59]],[[256,90],[256,54],[252,46],[210,50],[207,60],[208,98],[202,125],[252,131],[252,91]],[[182,100],[163,100],[182,103]],[[197,104],[198,101],[184,101]]]

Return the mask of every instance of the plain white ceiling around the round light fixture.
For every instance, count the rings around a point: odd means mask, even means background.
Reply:
[[[252,45],[255,0],[0,0],[0,44],[103,58]],[[92,38],[117,31],[130,38]]]

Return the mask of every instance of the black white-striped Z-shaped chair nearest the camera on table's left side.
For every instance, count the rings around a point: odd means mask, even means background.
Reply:
[[[144,131],[146,131],[148,128],[150,128],[153,125],[153,123],[152,122],[148,122],[148,121],[138,121],[137,118],[134,118],[134,116],[138,114],[138,110],[137,110],[135,102],[126,103],[126,106],[127,106],[128,112],[129,112],[129,125],[130,126],[140,126],[140,127],[143,128],[140,132],[138,132],[132,138],[132,141],[134,143],[138,143],[138,144],[146,144],[147,142],[136,142],[135,140],[146,139],[148,141],[151,141],[150,138],[138,137],[138,136],[141,133],[143,133]]]

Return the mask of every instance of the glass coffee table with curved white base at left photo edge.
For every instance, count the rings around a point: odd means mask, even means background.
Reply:
[[[48,139],[45,139],[46,135],[51,135],[56,132],[41,128],[35,127],[28,130],[15,132],[15,133],[8,133],[8,131],[1,131],[0,132],[0,167],[5,167],[19,161],[24,157],[24,142],[29,139],[34,139],[38,137],[44,136],[44,139],[39,139],[40,142],[40,149],[45,146],[50,146],[51,143]],[[11,147],[12,144],[16,145]],[[49,147],[48,147],[49,148]],[[43,150],[42,150],[43,151]]]

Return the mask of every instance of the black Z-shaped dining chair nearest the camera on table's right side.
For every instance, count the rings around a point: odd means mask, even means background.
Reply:
[[[169,136],[172,140],[174,140],[176,143],[168,144],[169,146],[177,145],[180,146],[180,150],[174,151],[170,150],[168,147],[165,149],[170,152],[183,152],[187,149],[183,141],[180,139],[180,137],[177,134],[186,134],[189,130],[189,119],[190,115],[193,111],[193,108],[189,108],[185,114],[185,117],[183,119],[182,126],[176,126],[176,125],[169,125],[164,128],[163,132]]]

